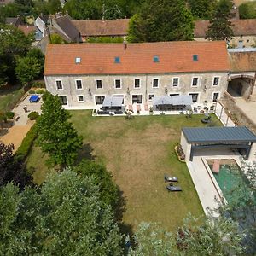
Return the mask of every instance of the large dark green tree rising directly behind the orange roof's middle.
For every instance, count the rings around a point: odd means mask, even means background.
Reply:
[[[192,40],[193,27],[184,0],[145,0],[131,19],[127,39],[131,43]]]

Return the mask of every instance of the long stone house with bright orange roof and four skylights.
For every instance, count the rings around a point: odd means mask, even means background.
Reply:
[[[94,108],[105,96],[151,104],[154,96],[191,95],[215,102],[228,87],[224,41],[143,44],[48,44],[47,90],[66,108]]]

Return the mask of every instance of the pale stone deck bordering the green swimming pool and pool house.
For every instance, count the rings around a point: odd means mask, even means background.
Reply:
[[[193,161],[187,162],[190,176],[195,184],[204,212],[207,215],[209,213],[208,209],[215,210],[213,216],[218,217],[219,214],[216,209],[221,201],[221,190],[216,180],[214,178],[212,180],[211,173],[207,172],[204,161],[208,159],[234,159],[241,166],[241,155],[228,150],[223,152],[221,150],[207,150],[207,154],[199,151],[194,156]]]

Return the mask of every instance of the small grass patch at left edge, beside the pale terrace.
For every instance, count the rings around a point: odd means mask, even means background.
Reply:
[[[9,86],[9,88],[0,89],[0,111],[10,111],[19,102],[24,95],[24,89],[20,86]]]

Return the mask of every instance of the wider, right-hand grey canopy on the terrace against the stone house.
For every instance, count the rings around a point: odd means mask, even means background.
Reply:
[[[177,96],[156,96],[153,98],[153,105],[191,105],[192,96],[177,95]]]

